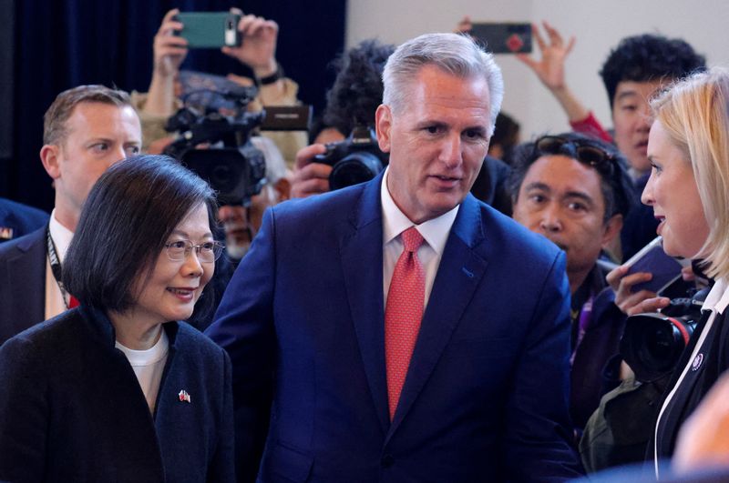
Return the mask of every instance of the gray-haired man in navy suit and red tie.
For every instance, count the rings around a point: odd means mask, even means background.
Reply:
[[[267,211],[207,331],[233,363],[239,477],[574,478],[564,254],[468,194],[500,70],[423,35],[384,82],[386,171]]]

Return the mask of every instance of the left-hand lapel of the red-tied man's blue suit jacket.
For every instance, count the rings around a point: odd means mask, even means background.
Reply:
[[[385,377],[385,308],[382,288],[382,174],[365,187],[340,243],[344,286],[377,417],[390,425]]]

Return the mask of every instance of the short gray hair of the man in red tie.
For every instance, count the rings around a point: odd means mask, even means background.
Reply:
[[[482,76],[486,80],[491,103],[489,136],[493,134],[504,98],[504,79],[494,56],[466,35],[420,35],[397,47],[387,60],[382,75],[383,103],[393,112],[399,112],[410,95],[409,84],[425,65],[435,65],[447,74],[464,79]]]

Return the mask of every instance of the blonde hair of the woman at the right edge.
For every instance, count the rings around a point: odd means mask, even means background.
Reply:
[[[729,276],[729,71],[714,67],[677,81],[652,100],[659,121],[691,163],[709,225],[697,254],[709,277]]]

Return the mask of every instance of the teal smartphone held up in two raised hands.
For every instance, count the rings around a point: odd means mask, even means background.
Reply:
[[[238,31],[241,15],[231,12],[180,12],[176,20],[182,24],[182,30],[176,35],[184,37],[189,48],[241,45],[242,36]]]

